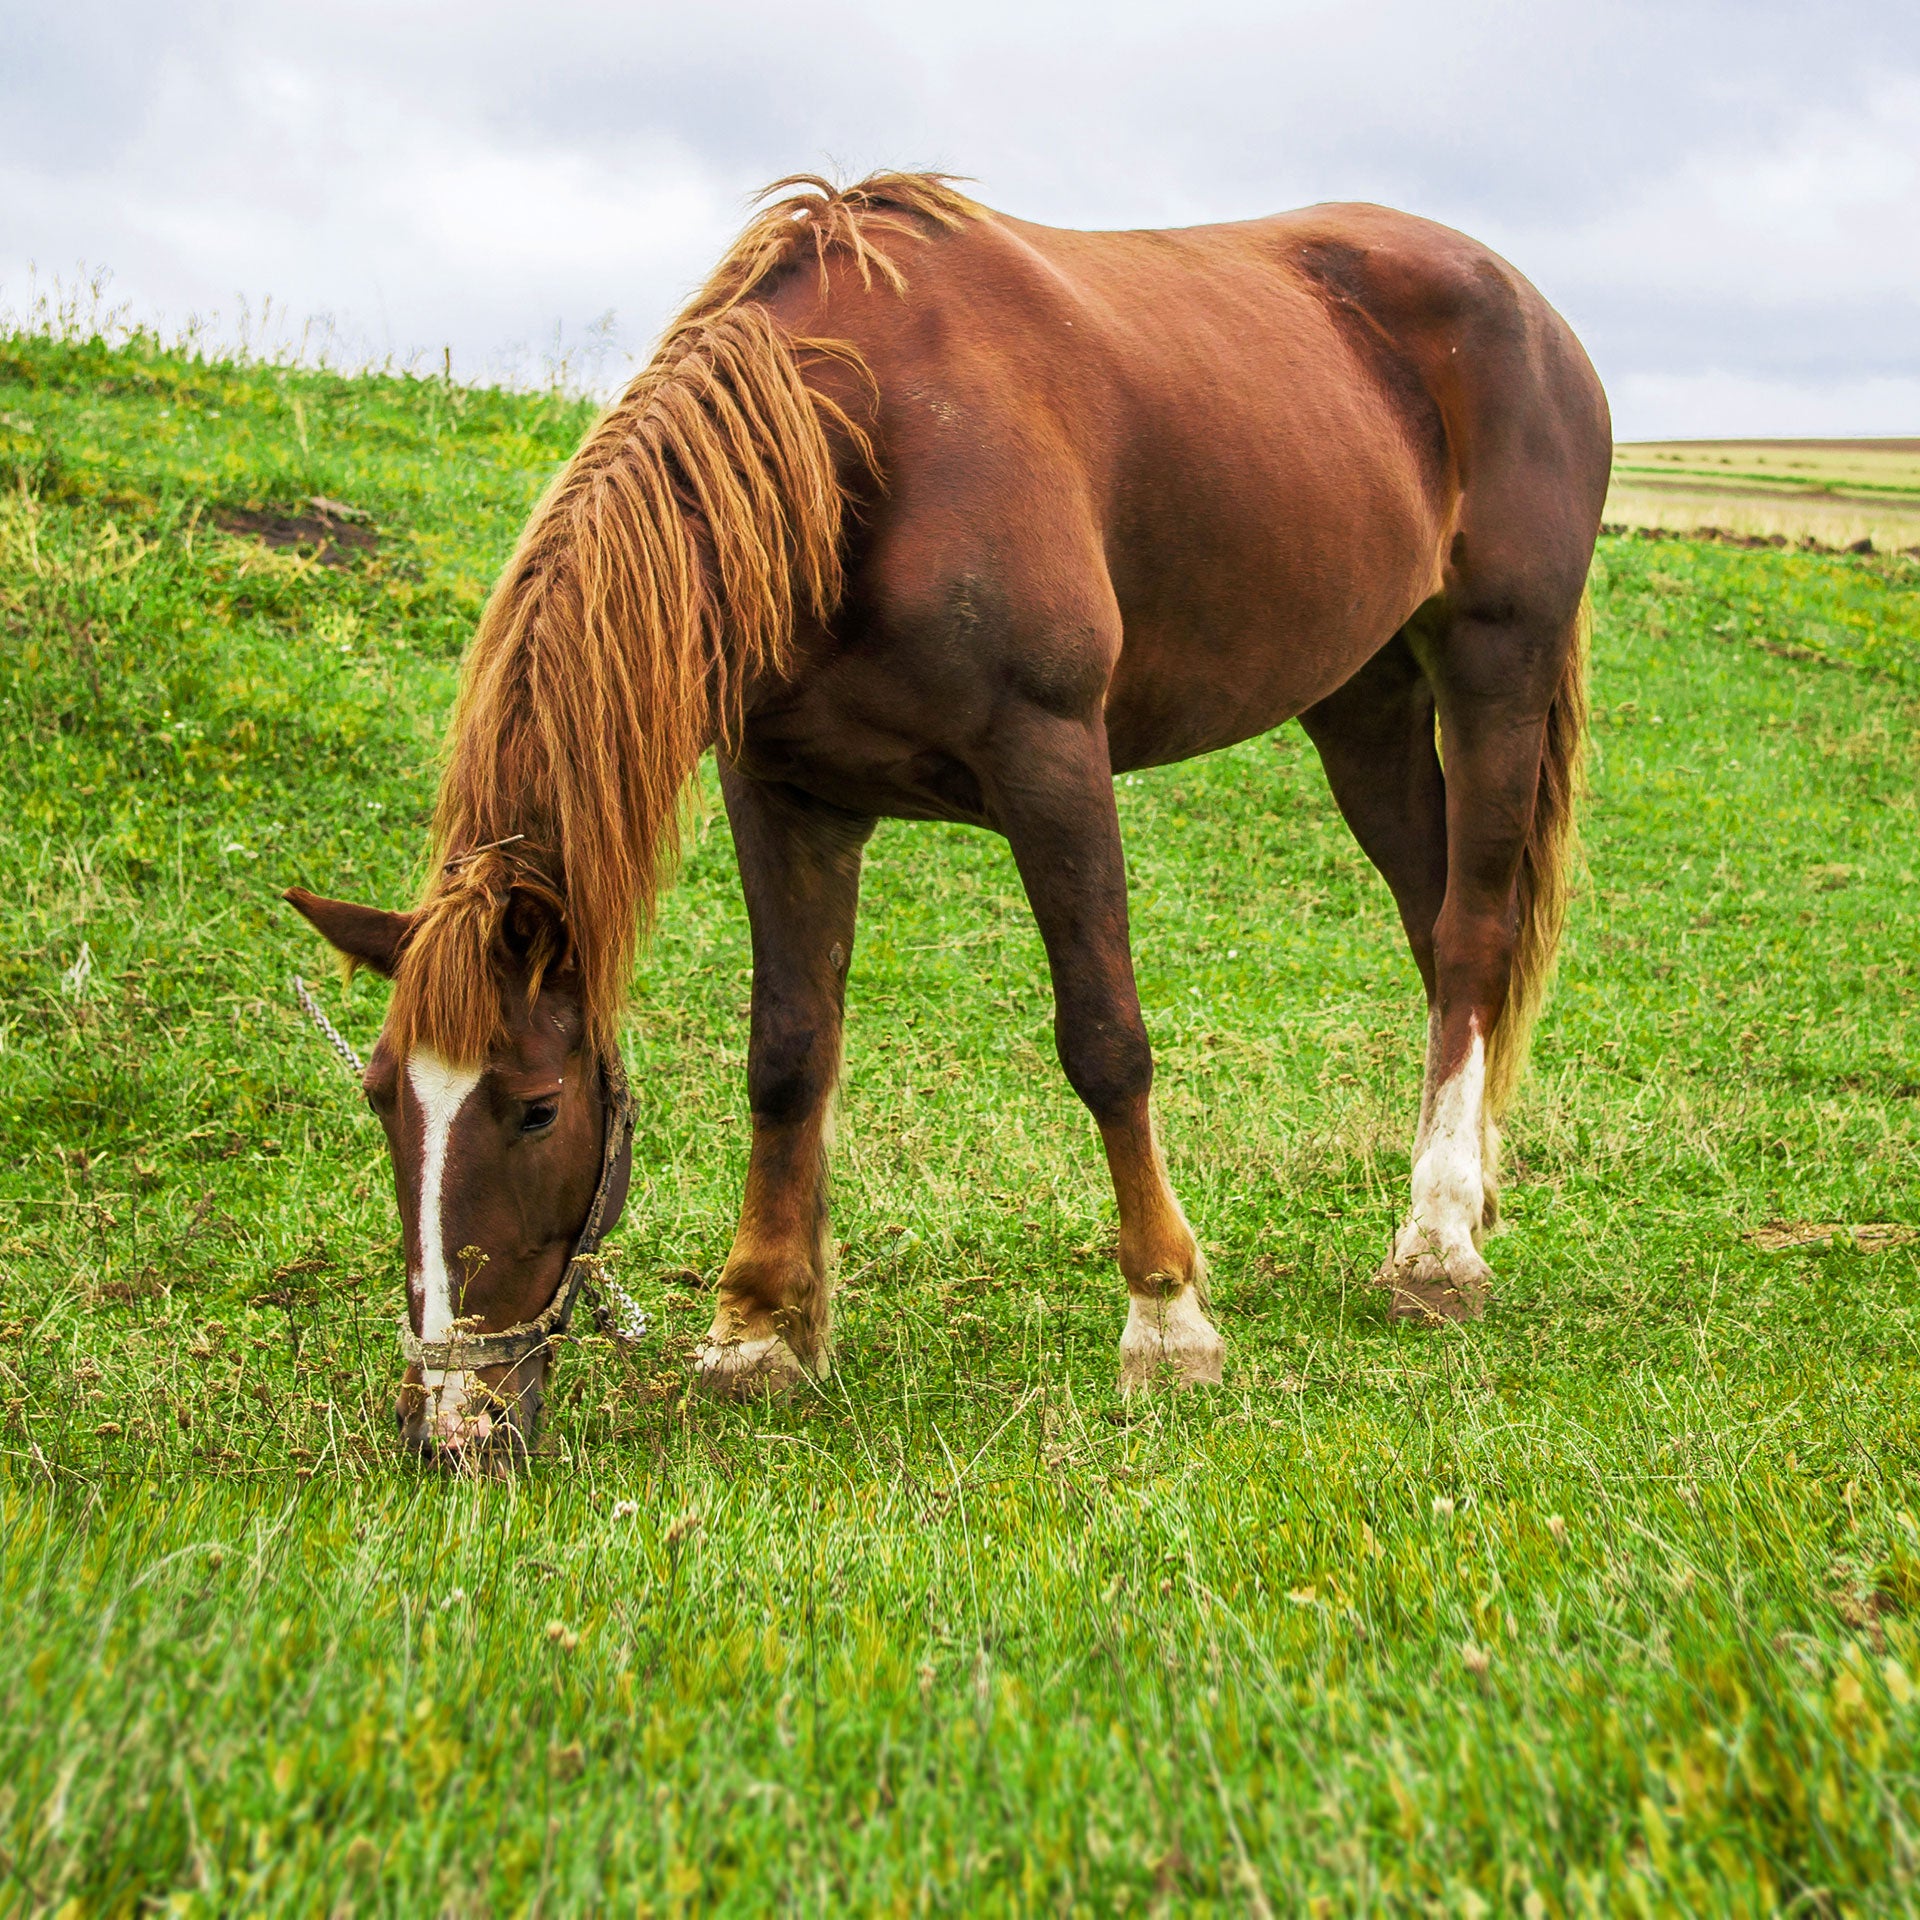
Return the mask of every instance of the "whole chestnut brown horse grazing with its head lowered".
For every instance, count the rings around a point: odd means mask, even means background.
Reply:
[[[780,186],[493,593],[420,906],[288,897],[396,979],[367,1092],[407,1229],[413,1444],[472,1457],[501,1407],[530,1438],[538,1317],[595,1173],[624,1192],[607,1075],[710,745],[755,977],[708,1386],[828,1365],[828,1114],[881,816],[1006,835],[1119,1202],[1121,1380],[1219,1379],[1154,1133],[1114,774],[1296,716],[1427,987],[1380,1279],[1394,1313],[1476,1313],[1584,728],[1611,436],[1578,342],[1484,248],[1371,205],[1094,234],[922,175]],[[457,1311],[532,1325],[524,1354],[419,1346]]]

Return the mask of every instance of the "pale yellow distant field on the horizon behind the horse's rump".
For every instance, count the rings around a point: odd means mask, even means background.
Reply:
[[[1920,551],[1920,440],[1647,440],[1613,451],[1611,526]]]

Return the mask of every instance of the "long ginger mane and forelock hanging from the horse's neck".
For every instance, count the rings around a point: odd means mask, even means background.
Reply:
[[[787,334],[756,296],[808,253],[822,284],[841,259],[900,290],[876,236],[975,209],[914,173],[849,188],[795,175],[760,198],[534,509],[480,616],[390,1014],[403,1052],[482,1060],[509,960],[528,993],[570,962],[589,1044],[614,1043],[701,753],[735,735],[755,680],[785,670],[797,609],[828,620],[839,605],[831,434],[868,470],[874,449],[804,371],[864,367],[845,342]]]

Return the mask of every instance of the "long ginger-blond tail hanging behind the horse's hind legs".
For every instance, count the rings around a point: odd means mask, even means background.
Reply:
[[[1567,924],[1567,902],[1572,899],[1578,856],[1574,810],[1586,791],[1586,662],[1592,626],[1592,603],[1582,595],[1561,682],[1548,707],[1534,822],[1521,851],[1513,973],[1486,1062],[1486,1106],[1494,1119],[1507,1110],[1521,1069],[1526,1066],[1526,1044],[1548,996],[1553,958]]]

